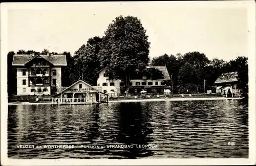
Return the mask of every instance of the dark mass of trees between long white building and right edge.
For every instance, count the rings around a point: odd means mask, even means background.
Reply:
[[[204,84],[206,90],[214,90],[214,82],[222,73],[238,72],[238,88],[248,91],[248,58],[237,57],[226,62],[214,58],[209,60],[205,54],[189,52],[176,56],[164,54],[153,58],[152,66],[166,66],[170,75],[173,75],[174,92],[203,93]]]

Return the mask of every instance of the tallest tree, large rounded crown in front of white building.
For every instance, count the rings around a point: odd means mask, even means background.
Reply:
[[[100,51],[101,67],[114,73],[115,79],[124,82],[129,91],[131,73],[145,68],[150,42],[141,21],[133,16],[119,16],[105,31]]]

